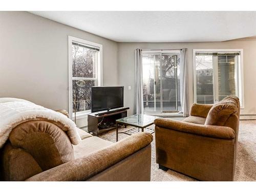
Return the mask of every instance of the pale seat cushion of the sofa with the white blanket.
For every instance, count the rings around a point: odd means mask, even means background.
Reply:
[[[83,139],[78,145],[73,145],[75,159],[87,156],[112,144],[112,142],[100,139],[99,137]]]

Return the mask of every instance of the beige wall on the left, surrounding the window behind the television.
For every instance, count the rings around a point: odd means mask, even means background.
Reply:
[[[28,12],[0,12],[0,97],[68,110],[68,35],[103,45],[103,85],[115,86],[115,41]]]

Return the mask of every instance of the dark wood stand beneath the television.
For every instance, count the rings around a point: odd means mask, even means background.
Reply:
[[[120,111],[108,112],[108,114],[98,115],[91,113],[88,115],[88,132],[99,136],[103,133],[116,129],[116,120],[127,117],[127,108]]]

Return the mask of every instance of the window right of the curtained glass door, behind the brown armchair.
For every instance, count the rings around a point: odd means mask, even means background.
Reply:
[[[243,104],[243,50],[194,50],[195,102],[238,96]]]

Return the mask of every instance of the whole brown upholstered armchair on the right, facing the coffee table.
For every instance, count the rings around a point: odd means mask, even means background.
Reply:
[[[226,97],[214,105],[193,104],[183,121],[156,119],[159,168],[203,181],[232,181],[239,113],[239,99]]]

